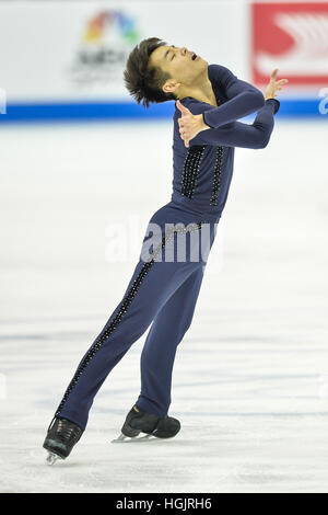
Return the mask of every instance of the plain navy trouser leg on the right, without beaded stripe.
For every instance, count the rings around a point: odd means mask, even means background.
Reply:
[[[198,266],[156,314],[141,354],[141,393],[137,407],[166,416],[171,404],[176,348],[190,327],[203,278]]]

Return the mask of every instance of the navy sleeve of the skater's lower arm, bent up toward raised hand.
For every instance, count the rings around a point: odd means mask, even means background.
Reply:
[[[265,148],[274,126],[274,114],[280,107],[277,99],[265,102],[251,125],[232,122],[223,127],[200,131],[190,145],[222,145],[224,147]]]

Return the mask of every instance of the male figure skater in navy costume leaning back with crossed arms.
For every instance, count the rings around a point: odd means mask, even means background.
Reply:
[[[142,41],[130,53],[124,77],[138,104],[149,107],[150,102],[176,101],[173,193],[145,231],[143,248],[152,241],[149,230],[154,232],[154,227],[159,228],[157,243],[147,259],[141,252],[121,301],[81,359],[55,412],[44,442],[49,464],[69,456],[85,430],[102,384],[151,323],[141,354],[141,391],[120,438],[136,438],[140,433],[169,438],[180,430],[179,421],[167,415],[176,347],[192,320],[232,180],[234,147],[260,149],[270,139],[273,114],[280,106],[274,96],[288,82],[277,81],[277,72],[263,96],[227,68],[208,65],[194,52],[168,46],[157,37]],[[251,125],[236,122],[256,111]],[[208,236],[207,253],[201,252],[199,259],[203,234]],[[188,250],[184,260],[177,260],[181,237]],[[174,259],[166,259],[167,251]]]

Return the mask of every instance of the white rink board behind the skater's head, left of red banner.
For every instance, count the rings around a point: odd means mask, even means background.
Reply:
[[[209,64],[220,62],[247,78],[246,11],[244,1],[202,1],[201,9],[195,0],[1,2],[0,47],[5,52],[0,55],[0,87],[8,102],[131,100],[122,78],[126,59],[137,43],[153,36],[187,46]],[[129,43],[113,23],[102,30],[98,43],[86,42],[89,23],[102,12],[129,21],[136,41]],[[231,26],[234,44],[226,45]],[[80,53],[96,53],[97,46],[120,58],[82,66]]]

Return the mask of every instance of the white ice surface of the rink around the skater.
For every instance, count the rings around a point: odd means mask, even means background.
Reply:
[[[171,199],[173,126],[0,127],[1,492],[328,492],[326,118],[278,119],[266,149],[236,149],[175,362],[179,434],[110,443],[139,394],[145,333],[54,467],[54,411]]]

